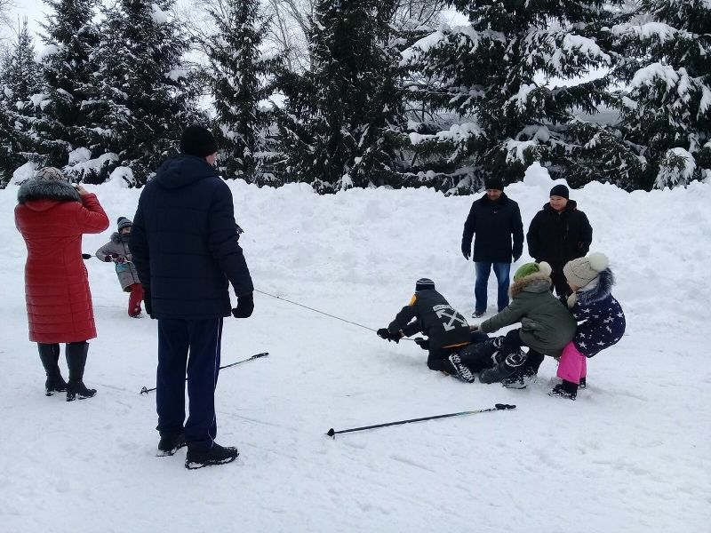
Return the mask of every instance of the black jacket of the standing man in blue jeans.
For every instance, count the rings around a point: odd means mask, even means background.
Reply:
[[[523,222],[518,203],[501,193],[496,202],[483,195],[472,203],[461,235],[461,250],[467,255],[474,239],[474,261],[510,263],[523,252]],[[512,245],[513,237],[513,245]]]

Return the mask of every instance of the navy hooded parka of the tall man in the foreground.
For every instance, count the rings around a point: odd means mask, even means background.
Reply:
[[[215,169],[194,155],[166,161],[143,188],[129,241],[151,314],[228,316],[228,284],[237,296],[253,290],[238,241],[232,193]]]

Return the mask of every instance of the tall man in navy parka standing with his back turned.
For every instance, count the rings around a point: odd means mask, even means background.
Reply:
[[[236,448],[214,441],[214,393],[222,320],[230,311],[246,318],[254,308],[232,194],[212,166],[216,156],[212,133],[189,126],[180,155],[143,188],[130,241],[146,311],[158,319],[158,455],[172,455],[187,444],[187,468],[228,463],[238,455]],[[237,296],[235,309],[230,309],[229,283]]]

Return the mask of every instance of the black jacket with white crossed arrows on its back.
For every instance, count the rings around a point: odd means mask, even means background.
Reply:
[[[430,353],[466,345],[471,336],[467,319],[434,289],[418,290],[410,303],[395,315],[387,330],[391,333],[403,330],[407,337],[424,333],[429,338]]]

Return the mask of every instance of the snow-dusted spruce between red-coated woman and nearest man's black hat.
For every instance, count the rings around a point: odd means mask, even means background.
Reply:
[[[167,14],[173,0],[119,0],[104,7],[94,57],[97,94],[92,120],[103,123],[95,142],[116,165],[145,183],[176,152],[194,118],[196,84],[184,62],[189,39]]]

